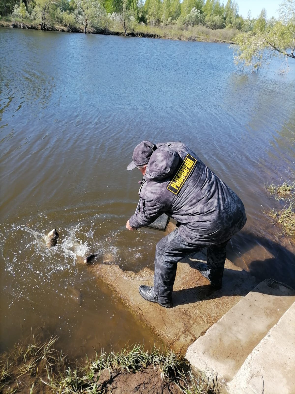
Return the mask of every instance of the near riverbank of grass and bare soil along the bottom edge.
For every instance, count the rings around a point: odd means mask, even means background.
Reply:
[[[216,394],[216,382],[194,376],[188,362],[173,352],[150,352],[142,346],[119,353],[98,353],[87,362],[73,362],[55,349],[57,338],[35,337],[0,355],[0,392],[101,394]]]

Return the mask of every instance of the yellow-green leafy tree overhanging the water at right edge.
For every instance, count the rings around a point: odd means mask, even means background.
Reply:
[[[280,4],[279,20],[265,32],[240,33],[236,37],[234,61],[258,70],[275,56],[283,59],[280,71],[288,71],[289,59],[295,59],[295,0]]]

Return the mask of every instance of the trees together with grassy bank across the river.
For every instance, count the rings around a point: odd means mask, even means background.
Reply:
[[[233,0],[0,0],[0,16],[41,30],[61,26],[84,33],[103,29],[225,42],[239,33],[255,35],[261,26],[267,30],[275,23],[264,10],[257,18],[250,12],[243,18]]]

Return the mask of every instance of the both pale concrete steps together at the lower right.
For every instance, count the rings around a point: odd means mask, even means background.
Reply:
[[[199,337],[193,367],[218,373],[230,394],[295,394],[295,292],[267,279]]]

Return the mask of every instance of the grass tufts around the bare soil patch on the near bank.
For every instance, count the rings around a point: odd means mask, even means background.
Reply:
[[[214,377],[207,374],[194,376],[188,362],[171,351],[153,348],[147,352],[135,345],[118,353],[96,353],[85,365],[71,364],[67,357],[53,348],[57,338],[38,342],[33,338],[28,345],[16,344],[15,348],[0,356],[0,392],[18,391],[30,394],[54,392],[57,394],[103,394],[105,388],[99,384],[103,370],[120,368],[128,373],[143,370],[148,366],[160,371],[163,381],[174,382],[186,394],[214,394],[220,388]],[[47,391],[46,391],[47,389]]]

